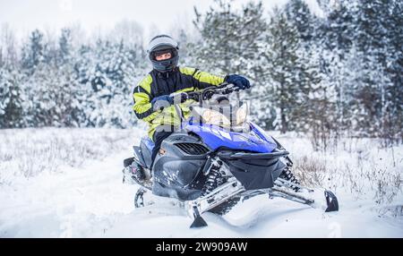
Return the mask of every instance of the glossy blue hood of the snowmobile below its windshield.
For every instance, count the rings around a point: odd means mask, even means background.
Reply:
[[[211,124],[186,124],[184,128],[194,132],[201,137],[201,140],[216,150],[220,147],[227,149],[248,150],[258,153],[270,153],[277,148],[274,141],[268,140],[262,132],[256,130],[250,123],[251,130],[257,135],[243,132],[229,132],[216,125]]]

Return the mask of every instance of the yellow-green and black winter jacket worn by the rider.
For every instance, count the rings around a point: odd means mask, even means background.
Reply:
[[[224,82],[224,77],[190,67],[176,67],[171,73],[159,73],[153,70],[134,88],[133,110],[139,119],[149,124],[149,136],[152,139],[158,126],[178,126],[180,124],[180,118],[177,116],[174,106],[166,107],[162,111],[154,111],[151,107],[153,98],[174,92],[201,90],[222,82]],[[187,107],[190,103],[192,100],[186,100],[180,104],[185,118],[190,115]]]

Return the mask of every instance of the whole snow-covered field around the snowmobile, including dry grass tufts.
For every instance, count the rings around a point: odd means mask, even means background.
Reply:
[[[403,146],[345,140],[326,154],[274,133],[303,183],[336,192],[339,212],[259,196],[225,217],[191,220],[174,200],[133,208],[122,161],[140,129],[0,131],[0,237],[403,237]]]

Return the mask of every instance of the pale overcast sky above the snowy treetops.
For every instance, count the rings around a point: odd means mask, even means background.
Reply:
[[[314,0],[307,0],[314,2]],[[236,0],[240,7],[247,0]],[[262,0],[266,7],[287,0]],[[202,12],[213,0],[0,0],[0,23],[8,23],[18,34],[31,30],[59,30],[80,22],[87,31],[108,30],[122,20],[137,21],[146,32],[152,27],[168,32],[178,22],[191,26],[193,6]],[[268,8],[266,8],[268,9]]]

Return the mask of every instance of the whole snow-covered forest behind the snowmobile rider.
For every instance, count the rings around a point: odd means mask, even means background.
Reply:
[[[303,0],[273,10],[217,0],[194,8],[193,30],[172,31],[180,65],[239,73],[251,118],[266,130],[310,134],[315,149],[341,137],[403,141],[403,2]],[[149,38],[134,21],[82,38],[79,26],[0,29],[0,128],[129,128],[133,88],[148,72]]]

